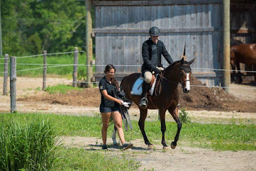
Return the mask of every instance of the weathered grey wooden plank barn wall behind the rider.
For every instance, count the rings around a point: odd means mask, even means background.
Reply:
[[[191,66],[193,74],[206,85],[219,85],[221,73],[205,69],[220,69],[222,65],[221,8],[222,4],[96,6],[96,64],[112,63],[120,77],[140,72],[142,43],[149,38],[149,28],[158,26],[165,30],[160,40],[174,61],[180,60],[186,46],[187,60],[196,58]],[[104,33],[108,29],[147,31]],[[162,62],[167,65],[165,59]],[[97,66],[94,75],[99,77],[103,70],[104,66]]]

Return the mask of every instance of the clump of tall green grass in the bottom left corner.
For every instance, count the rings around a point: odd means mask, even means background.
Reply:
[[[2,119],[3,121],[3,119]],[[49,170],[57,152],[58,136],[48,119],[2,122],[0,170]]]

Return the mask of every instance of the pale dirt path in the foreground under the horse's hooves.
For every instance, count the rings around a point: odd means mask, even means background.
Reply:
[[[111,138],[108,138],[111,142]],[[88,150],[100,150],[100,139],[94,137],[67,137],[62,143],[67,147],[82,147]],[[204,148],[177,146],[174,150],[162,150],[162,145],[154,145],[154,150],[148,150],[143,140],[132,141],[132,149],[122,151],[120,146],[109,146],[108,152],[103,152],[106,160],[111,157],[136,160],[142,164],[139,170],[256,170],[256,152],[214,152]]]

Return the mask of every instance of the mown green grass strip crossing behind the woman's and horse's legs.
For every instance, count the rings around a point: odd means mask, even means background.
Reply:
[[[33,116],[43,117],[45,114],[0,114],[0,121],[7,122],[15,118],[17,121],[29,120]],[[48,114],[49,119],[61,135],[101,137],[101,118],[89,116],[66,116]],[[133,130],[125,132],[127,141],[142,139],[138,123],[132,121]],[[173,141],[177,124],[166,122],[165,140]],[[182,125],[178,145],[212,148],[214,150],[256,150],[256,126],[254,124],[200,124],[187,123]],[[109,126],[108,136],[111,136],[113,126]],[[147,121],[145,131],[150,141],[160,140],[159,121]]]

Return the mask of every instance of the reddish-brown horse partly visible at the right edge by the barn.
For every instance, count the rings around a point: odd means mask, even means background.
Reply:
[[[231,77],[232,82],[242,83],[242,76],[240,72],[240,63],[245,63],[247,65],[256,64],[256,43],[245,44],[242,41],[232,41],[230,47],[230,64],[233,70],[233,77]],[[235,72],[235,66],[238,70],[238,80],[237,74]]]

